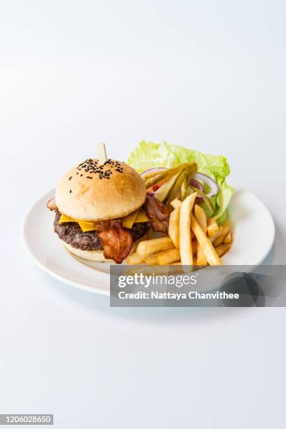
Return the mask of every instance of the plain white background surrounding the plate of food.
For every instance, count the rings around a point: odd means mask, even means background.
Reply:
[[[285,2],[10,0],[0,15],[0,412],[54,413],[61,429],[282,428],[285,308],[109,308],[41,273],[21,228],[97,142],[125,159],[165,139],[227,156],[285,264]]]

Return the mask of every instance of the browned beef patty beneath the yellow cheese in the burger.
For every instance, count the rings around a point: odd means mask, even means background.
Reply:
[[[102,242],[96,231],[83,232],[76,222],[59,224],[60,217],[61,213],[55,210],[54,231],[61,240],[72,247],[76,247],[76,249],[103,250]],[[127,231],[130,231],[133,241],[135,241],[144,236],[149,226],[149,222],[139,222],[133,224],[132,229],[127,229]]]

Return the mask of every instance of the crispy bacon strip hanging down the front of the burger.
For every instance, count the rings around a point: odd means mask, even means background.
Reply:
[[[121,222],[117,219],[95,222],[95,230],[102,240],[104,257],[113,259],[116,264],[121,264],[132,247],[133,240],[130,232],[123,229]]]

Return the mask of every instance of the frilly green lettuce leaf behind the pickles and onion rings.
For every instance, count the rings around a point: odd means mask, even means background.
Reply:
[[[229,175],[229,164],[225,156],[208,155],[182,146],[175,146],[167,142],[152,143],[140,142],[132,151],[127,163],[138,172],[155,167],[173,167],[186,161],[198,164],[198,172],[214,179],[219,185],[219,193],[212,198],[214,203],[214,217],[222,220],[225,217],[226,207],[229,205],[234,189],[226,184]]]

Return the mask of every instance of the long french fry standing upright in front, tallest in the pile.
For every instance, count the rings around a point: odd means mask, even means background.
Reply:
[[[193,265],[193,250],[191,247],[191,211],[197,193],[193,192],[182,202],[179,213],[179,252],[182,265]]]

